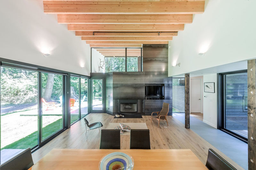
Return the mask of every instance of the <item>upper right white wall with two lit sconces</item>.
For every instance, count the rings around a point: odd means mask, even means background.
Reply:
[[[255,7],[255,0],[206,0],[204,13],[169,43],[169,76],[255,58]]]

